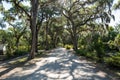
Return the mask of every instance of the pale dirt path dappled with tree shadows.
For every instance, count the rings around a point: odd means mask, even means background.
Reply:
[[[92,62],[72,53],[57,48],[48,57],[37,58],[19,66],[8,68],[7,64],[1,64],[0,80],[114,80]]]

